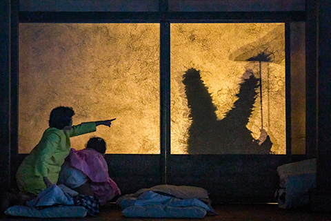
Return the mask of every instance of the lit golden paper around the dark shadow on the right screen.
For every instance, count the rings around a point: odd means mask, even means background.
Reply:
[[[225,117],[239,93],[246,70],[259,77],[259,62],[247,61],[263,51],[272,62],[261,62],[263,128],[272,141],[271,153],[285,153],[285,26],[283,23],[172,23],[171,24],[171,153],[188,149],[192,124],[183,75],[194,68]],[[247,124],[252,137],[260,136],[260,95]],[[226,133],[219,131],[219,133]],[[201,147],[203,148],[203,147]],[[210,153],[210,152],[208,152]],[[217,153],[217,151],[215,151]],[[225,153],[232,153],[225,151]],[[237,153],[237,152],[236,152]]]

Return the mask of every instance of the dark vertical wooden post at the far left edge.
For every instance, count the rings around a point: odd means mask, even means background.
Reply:
[[[10,0],[1,1],[0,27],[0,188],[3,193],[10,186]]]

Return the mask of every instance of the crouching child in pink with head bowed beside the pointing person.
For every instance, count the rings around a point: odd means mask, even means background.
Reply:
[[[100,137],[90,138],[81,151],[71,148],[61,166],[57,184],[64,184],[81,195],[97,195],[101,206],[121,195],[117,184],[109,177],[104,153],[106,142]]]

